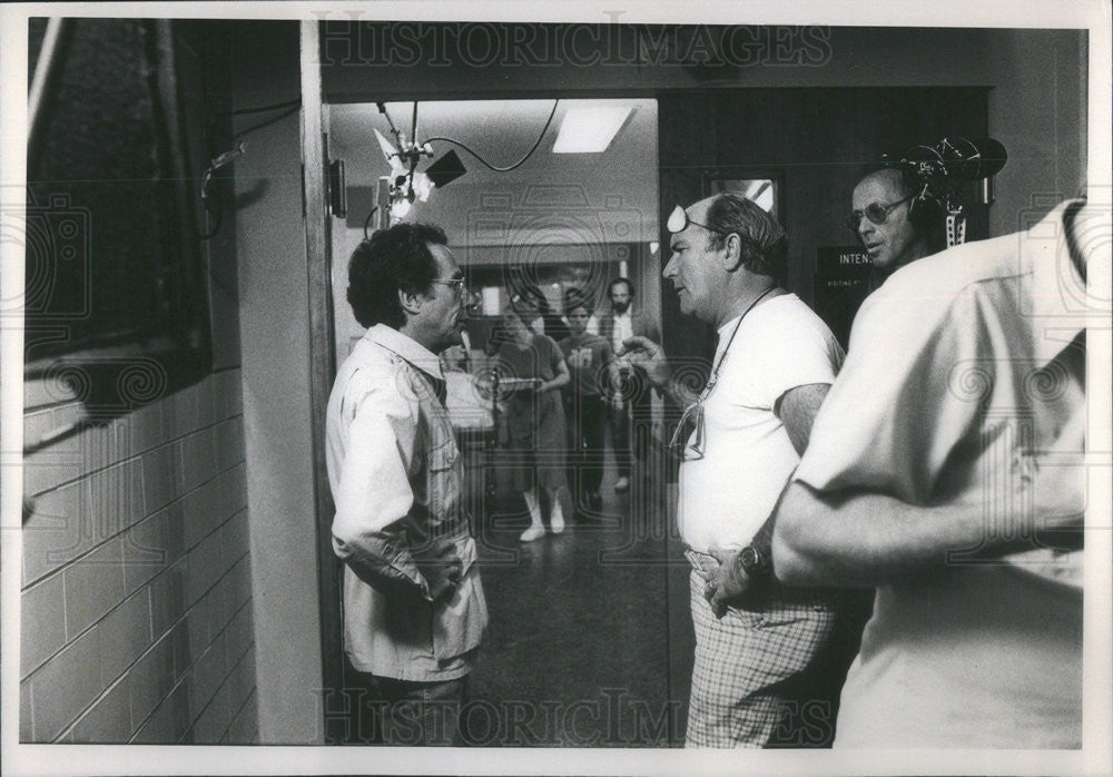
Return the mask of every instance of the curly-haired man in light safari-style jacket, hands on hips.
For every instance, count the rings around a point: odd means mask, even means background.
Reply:
[[[347,299],[367,332],[337,371],[325,455],[344,652],[355,682],[385,704],[387,742],[460,741],[487,622],[437,360],[460,343],[465,293],[435,226],[376,232],[348,265]]]

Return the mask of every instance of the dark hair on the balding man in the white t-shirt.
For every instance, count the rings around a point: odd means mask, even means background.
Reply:
[[[788,268],[788,238],[772,216],[752,200],[725,193],[711,200],[707,210],[708,248],[720,250],[727,237],[736,234],[741,240],[741,266],[757,275],[777,281]]]

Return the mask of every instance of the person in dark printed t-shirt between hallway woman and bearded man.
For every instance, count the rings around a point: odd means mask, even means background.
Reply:
[[[569,422],[569,469],[574,473],[577,505],[598,511],[603,479],[603,393],[614,385],[614,353],[598,335],[588,333],[591,301],[582,289],[564,293],[564,315],[571,334],[560,341],[572,380],[564,386],[564,412]]]

